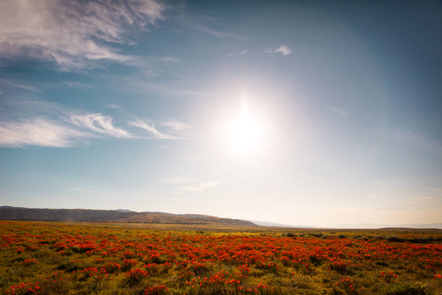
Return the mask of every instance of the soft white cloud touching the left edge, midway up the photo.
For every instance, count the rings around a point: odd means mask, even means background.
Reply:
[[[70,147],[73,140],[90,137],[87,132],[45,118],[0,122],[0,146]]]

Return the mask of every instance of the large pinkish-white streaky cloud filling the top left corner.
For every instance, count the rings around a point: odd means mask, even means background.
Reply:
[[[55,61],[62,70],[124,61],[111,44],[134,44],[127,27],[154,24],[164,10],[154,0],[0,1],[0,54]]]

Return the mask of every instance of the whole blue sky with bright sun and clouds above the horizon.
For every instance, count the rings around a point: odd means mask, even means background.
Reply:
[[[0,205],[442,222],[440,1],[0,1]]]

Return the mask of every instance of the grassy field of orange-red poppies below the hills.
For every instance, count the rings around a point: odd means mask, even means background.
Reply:
[[[442,294],[441,230],[0,221],[1,294]]]

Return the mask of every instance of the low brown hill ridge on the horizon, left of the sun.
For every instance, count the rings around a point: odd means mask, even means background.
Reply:
[[[254,223],[245,220],[199,214],[135,212],[127,209],[50,209],[11,206],[0,206],[0,220],[107,221],[256,226]]]

